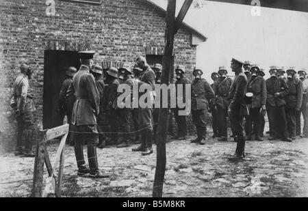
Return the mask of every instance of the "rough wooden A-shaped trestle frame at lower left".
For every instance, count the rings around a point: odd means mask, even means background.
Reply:
[[[34,163],[34,178],[31,191],[31,197],[47,197],[50,191],[54,191],[55,197],[61,197],[61,186],[63,178],[64,167],[64,148],[66,138],[68,136],[68,124],[52,128],[49,130],[40,130],[39,139],[36,144],[36,158]],[[49,159],[47,151],[47,141],[62,137],[60,146],[57,149],[53,165]],[[57,163],[60,162],[59,172],[55,176],[55,169]],[[47,178],[47,185],[43,188],[44,164],[47,167],[49,178]]]

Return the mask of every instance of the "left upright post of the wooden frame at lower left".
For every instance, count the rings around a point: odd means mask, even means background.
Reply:
[[[34,178],[31,197],[42,197],[43,175],[44,175],[44,150],[47,140],[45,131],[40,131],[40,139],[36,144],[36,158],[34,162]]]

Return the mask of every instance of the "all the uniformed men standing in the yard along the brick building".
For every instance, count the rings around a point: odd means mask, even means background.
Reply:
[[[98,64],[93,65],[93,55],[93,51],[79,52],[79,70],[70,67],[66,71],[67,78],[61,87],[59,107],[68,117],[68,141],[75,146],[77,174],[90,173],[92,178],[105,178],[108,175],[99,171],[97,147],[103,148],[106,144],[127,147],[133,134],[134,142],[140,143],[132,149],[133,152],[142,152],[143,156],[153,153],[152,143],[156,141],[159,108],[120,109],[117,98],[122,93],[118,92],[118,86],[127,84],[132,92],[134,83],[139,86],[148,84],[155,90],[155,84],[161,83],[162,65],[155,64],[151,68],[145,57],[138,57],[132,70],[129,64],[123,64],[119,69],[110,67],[103,70]],[[296,135],[300,135],[300,113],[304,117],[303,136],[308,137],[306,70],[297,72],[298,79],[294,68],[288,68],[284,72],[277,66],[272,66],[269,70],[270,78],[265,80],[263,69],[238,59],[232,59],[231,70],[235,72],[235,79],[229,78],[227,68],[222,66],[217,73],[211,74],[214,83],[210,85],[201,78],[202,68],[194,68],[192,82],[186,78],[184,66],[179,65],[175,69],[176,87],[177,84],[183,84],[184,88],[186,84],[191,85],[191,113],[197,135],[192,143],[206,143],[208,112],[211,112],[213,119],[212,137],[218,137],[218,141],[227,141],[227,117],[230,119],[232,137],[237,142],[235,155],[230,160],[244,158],[245,141],[253,138],[263,141],[266,111],[270,140],[296,139]],[[283,78],[285,73],[287,78]],[[21,74],[14,82],[11,106],[14,107],[18,123],[16,155],[34,156],[32,140],[36,133],[33,117],[35,107],[28,82],[31,74],[31,68],[22,64]],[[139,98],[145,92],[139,92]],[[188,100],[185,99],[185,90],[181,93],[183,96],[176,96],[183,98],[184,102]],[[180,110],[185,109],[172,109],[177,122],[177,135],[173,138],[183,140],[187,136],[187,124],[186,116],[179,115]],[[106,131],[106,128],[109,129]],[[25,150],[21,141],[23,134]],[[84,143],[88,145],[90,169],[86,167],[84,160]]]

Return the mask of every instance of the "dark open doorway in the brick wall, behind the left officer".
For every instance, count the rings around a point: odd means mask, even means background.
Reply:
[[[62,125],[63,117],[58,111],[61,85],[70,66],[80,67],[77,51],[44,52],[43,128]]]

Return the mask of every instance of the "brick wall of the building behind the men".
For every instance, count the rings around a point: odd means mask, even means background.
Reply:
[[[8,101],[18,64],[27,59],[34,68],[36,122],[42,119],[44,50],[97,51],[97,61],[125,61],[164,48],[164,14],[143,0],[104,0],[101,5],[55,1],[55,16],[47,16],[45,0],[0,1],[0,152],[14,147],[14,126],[8,122]],[[156,51],[162,53],[162,51]],[[192,70],[196,46],[190,32],[175,37],[175,65]]]

